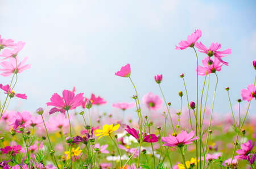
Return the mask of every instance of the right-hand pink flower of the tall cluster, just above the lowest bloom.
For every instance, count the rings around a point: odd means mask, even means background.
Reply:
[[[226,66],[229,65],[228,62],[225,62],[225,61],[222,60],[222,57],[226,56],[224,54],[231,54],[232,53],[232,50],[230,48],[220,51],[219,49],[221,48],[221,44],[219,44],[219,43],[212,43],[210,45],[210,47],[207,48],[201,42],[196,43],[196,48],[199,49],[198,50],[199,52],[208,54],[209,57],[212,57],[212,56],[217,57],[218,60],[220,60],[220,62],[222,62],[222,64],[224,64]],[[217,50],[219,50],[219,51],[217,51]]]

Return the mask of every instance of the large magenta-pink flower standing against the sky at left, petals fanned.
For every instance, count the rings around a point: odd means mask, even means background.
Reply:
[[[47,105],[54,106],[54,108],[49,111],[50,115],[55,112],[65,113],[65,111],[75,109],[82,104],[82,100],[84,99],[82,96],[84,95],[83,93],[75,95],[74,92],[69,90],[63,90],[62,95],[63,97],[55,93],[51,97],[51,102],[46,103]]]

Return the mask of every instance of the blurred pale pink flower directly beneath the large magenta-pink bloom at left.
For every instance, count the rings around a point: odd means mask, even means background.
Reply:
[[[56,131],[69,126],[68,118],[63,113],[59,113],[57,116],[51,116],[48,120],[49,130]]]

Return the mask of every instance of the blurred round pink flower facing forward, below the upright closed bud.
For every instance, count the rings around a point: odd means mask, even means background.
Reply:
[[[152,92],[149,92],[143,96],[142,102],[148,109],[157,110],[162,107],[163,100],[158,95],[154,95]]]

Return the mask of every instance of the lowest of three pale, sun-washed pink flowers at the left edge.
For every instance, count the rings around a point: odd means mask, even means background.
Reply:
[[[11,74],[22,73],[22,71],[29,69],[31,65],[25,65],[27,59],[28,57],[25,57],[21,62],[19,62],[18,57],[16,57],[16,59],[10,58],[9,61],[0,62],[0,65],[3,67],[3,69],[0,69],[0,71],[3,71],[1,75],[9,77]],[[16,60],[17,63],[19,63],[18,65],[16,65]]]

